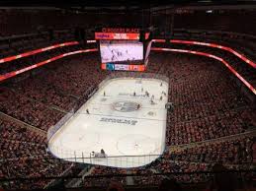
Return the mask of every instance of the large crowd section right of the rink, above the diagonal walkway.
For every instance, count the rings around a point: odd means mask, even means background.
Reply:
[[[169,72],[168,59],[161,67],[170,76],[169,99],[175,105],[168,115],[170,145],[243,133],[255,126],[253,110],[228,83],[228,75],[222,75],[220,63],[200,56],[185,60],[184,54],[169,55],[178,58]],[[193,57],[197,65],[191,67]]]

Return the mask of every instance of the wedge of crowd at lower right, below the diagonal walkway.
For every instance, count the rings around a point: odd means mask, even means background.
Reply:
[[[212,163],[221,161],[228,164],[252,162],[252,144],[250,138],[236,138],[235,141],[218,141],[210,145],[187,148],[173,152],[171,159]]]

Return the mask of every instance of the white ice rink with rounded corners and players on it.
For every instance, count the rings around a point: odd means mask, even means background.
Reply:
[[[108,166],[150,163],[165,147],[166,95],[168,84],[158,79],[105,81],[50,138],[48,150],[59,159]],[[93,158],[101,149],[107,158]]]

